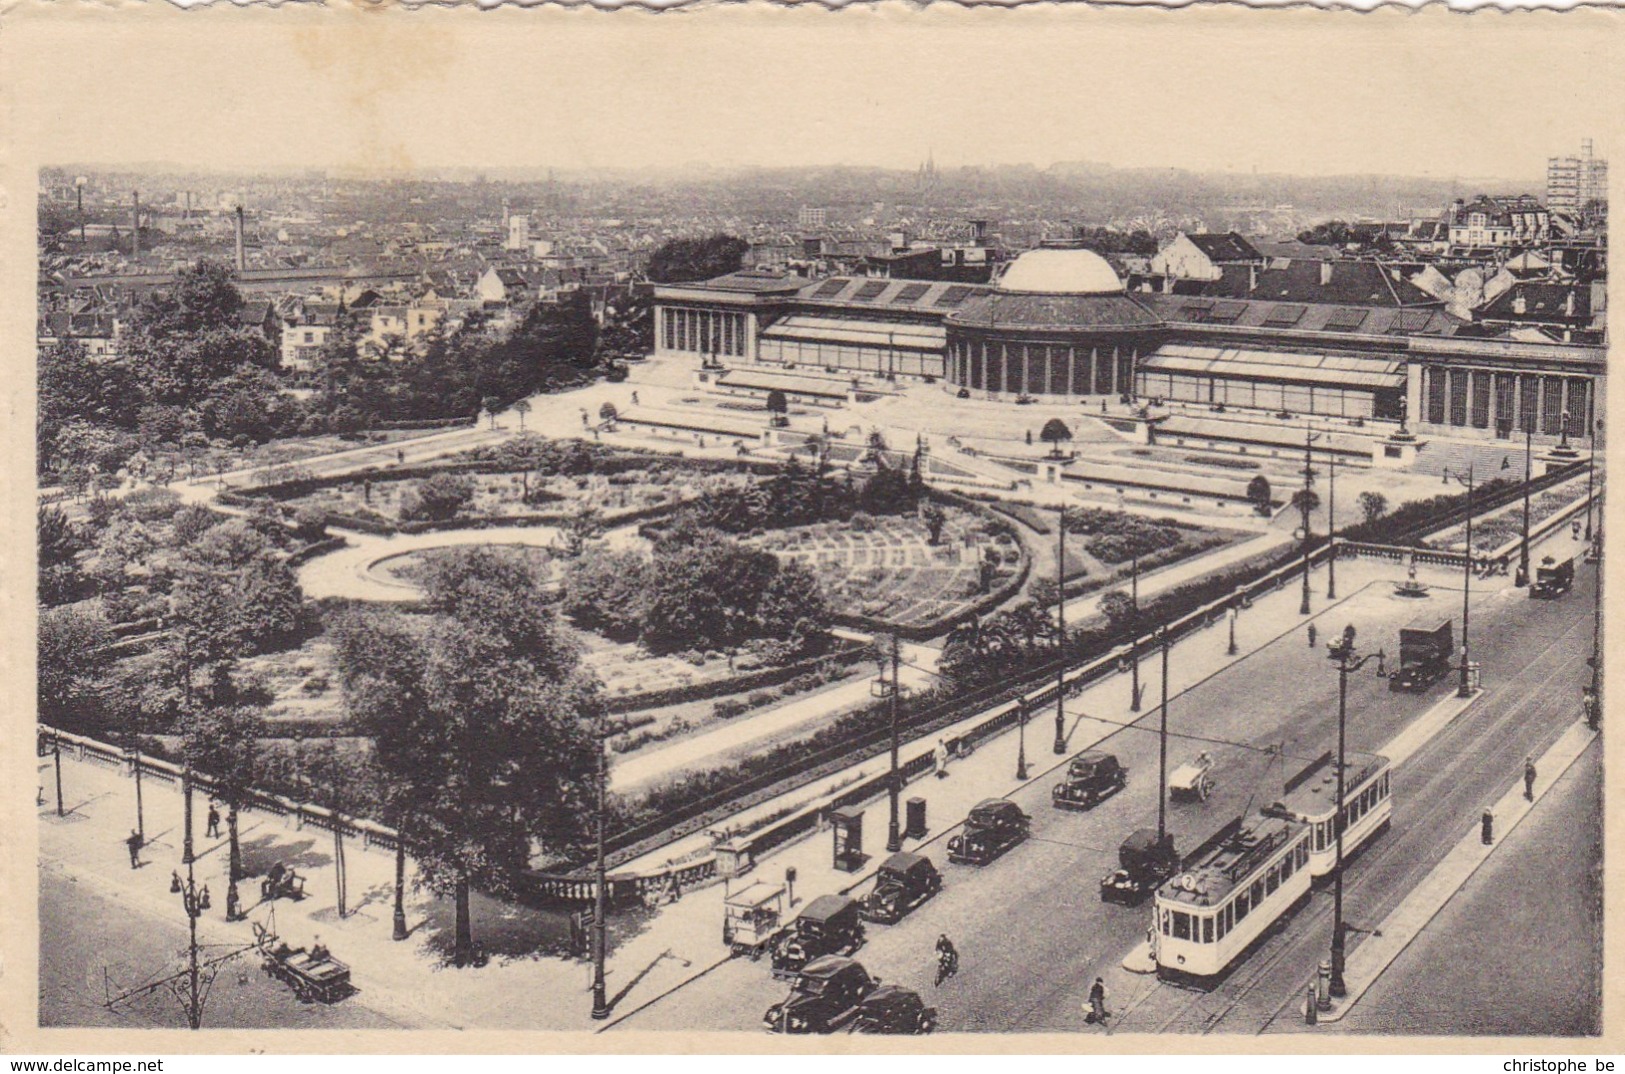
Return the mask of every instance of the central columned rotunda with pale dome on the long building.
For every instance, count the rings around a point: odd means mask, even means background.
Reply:
[[[1162,330],[1103,257],[1072,249],[1022,253],[944,325],[947,382],[990,398],[1129,393]]]

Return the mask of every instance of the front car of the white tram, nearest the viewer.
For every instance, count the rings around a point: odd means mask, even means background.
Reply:
[[[1157,889],[1157,977],[1214,978],[1310,894],[1313,830],[1254,812],[1237,817]]]

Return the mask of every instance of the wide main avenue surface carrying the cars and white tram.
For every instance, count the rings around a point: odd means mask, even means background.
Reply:
[[[1380,920],[1383,900],[1398,900],[1462,834],[1482,801],[1498,795],[1521,772],[1523,757],[1554,739],[1578,708],[1583,658],[1589,652],[1592,572],[1562,601],[1531,601],[1519,590],[1474,590],[1472,648],[1492,687],[1464,717],[1425,746],[1396,777],[1401,803],[1394,829],[1350,866],[1349,918]],[[1435,591],[1436,609],[1459,609],[1459,591]],[[1415,609],[1388,587],[1373,585],[1339,608],[1337,619],[1367,624],[1362,640],[1393,645],[1398,622]],[[1376,627],[1381,621],[1384,626]],[[1323,622],[1323,627],[1326,624]],[[1155,699],[1157,671],[1147,671]],[[1448,695],[1438,684],[1427,695],[1393,694],[1372,674],[1349,681],[1349,747],[1376,749],[1432,704]],[[941,842],[926,853],[944,868],[947,887],[895,928],[871,929],[860,960],[889,981],[921,988],[941,1009],[944,1030],[1077,1030],[1087,981],[1115,973],[1120,1011],[1134,1012],[1136,1029],[1258,1032],[1290,1003],[1321,957],[1320,916],[1328,897],[1316,897],[1285,931],[1300,936],[1290,965],[1269,962],[1232,977],[1232,993],[1193,994],[1118,970],[1144,936],[1146,908],[1105,907],[1098,877],[1110,871],[1116,843],[1134,827],[1155,824],[1155,708],[1138,730],[1108,741],[1129,769],[1129,786],[1089,814],[1063,814],[1048,804],[1055,777],[1017,793],[1035,817],[1034,838],[985,869],[942,864]],[[1199,806],[1172,806],[1168,829],[1188,851],[1248,806],[1263,804],[1254,790],[1280,780],[1336,741],[1336,674],[1324,655],[1290,634],[1233,669],[1176,695],[1168,710],[1173,736],[1212,738],[1251,746],[1173,738],[1170,765],[1207,747],[1220,780],[1214,798]],[[1263,752],[1277,746],[1289,760]],[[938,825],[933,825],[938,827]],[[1412,834],[1412,829],[1415,834]],[[1365,877],[1363,882],[1360,877]],[[1363,900],[1363,902],[1362,902]],[[962,973],[933,990],[931,942],[949,933],[962,952]],[[1269,964],[1269,965],[1266,965]],[[1254,980],[1256,978],[1256,980]],[[1233,993],[1245,1004],[1237,1007]],[[731,962],[666,1001],[629,1019],[627,1029],[759,1027],[760,1012],[782,994],[762,965]],[[1124,1025],[1123,1029],[1129,1029]]]

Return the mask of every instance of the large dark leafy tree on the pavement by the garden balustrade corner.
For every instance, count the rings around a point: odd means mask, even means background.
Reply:
[[[468,965],[471,889],[510,894],[536,845],[564,858],[585,843],[603,702],[523,561],[445,552],[424,595],[426,627],[351,622],[336,656],[346,707],[410,803],[422,882],[455,900]]]

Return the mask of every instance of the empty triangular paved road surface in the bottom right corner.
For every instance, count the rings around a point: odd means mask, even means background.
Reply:
[[[1597,741],[1337,1029],[1519,1037],[1601,1032],[1601,819]],[[1532,892],[1539,897],[1531,899]],[[1464,942],[1485,929],[1493,929],[1495,944]]]

